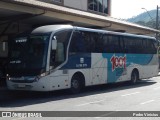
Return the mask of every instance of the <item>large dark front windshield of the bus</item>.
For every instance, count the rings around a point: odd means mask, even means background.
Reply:
[[[35,75],[43,72],[46,66],[50,35],[30,35],[17,38],[11,45],[8,69],[20,75]]]

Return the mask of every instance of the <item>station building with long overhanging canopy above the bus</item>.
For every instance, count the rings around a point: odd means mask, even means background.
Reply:
[[[48,24],[72,24],[154,36],[158,30],[111,17],[111,0],[1,0],[0,75],[8,57],[8,40]],[[1,76],[0,76],[1,77]]]

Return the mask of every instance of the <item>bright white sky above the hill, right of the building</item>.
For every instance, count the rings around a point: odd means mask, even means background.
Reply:
[[[160,0],[111,0],[111,16],[119,19],[132,18],[146,10],[160,7]],[[159,9],[160,10],[160,9]]]

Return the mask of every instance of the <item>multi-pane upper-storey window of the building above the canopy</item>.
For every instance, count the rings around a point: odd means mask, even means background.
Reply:
[[[88,0],[88,9],[108,14],[108,0]]]

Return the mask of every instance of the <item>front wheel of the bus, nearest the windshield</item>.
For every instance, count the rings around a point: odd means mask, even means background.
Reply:
[[[73,94],[79,93],[81,89],[82,89],[82,84],[80,82],[79,76],[73,76],[70,88],[71,93]]]

